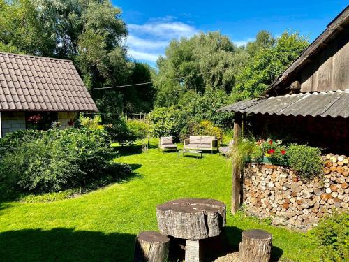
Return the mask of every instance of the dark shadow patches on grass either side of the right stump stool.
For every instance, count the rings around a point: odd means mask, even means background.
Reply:
[[[228,240],[228,252],[236,252],[239,250],[239,243],[242,241],[242,229],[235,226],[227,226],[224,228],[225,238]],[[279,247],[272,246],[272,258],[270,261],[279,261],[283,254],[283,250]]]

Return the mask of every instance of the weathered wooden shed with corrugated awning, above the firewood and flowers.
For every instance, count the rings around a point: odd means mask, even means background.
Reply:
[[[349,154],[349,7],[260,96],[227,105],[255,136]],[[244,126],[244,124],[243,124]]]

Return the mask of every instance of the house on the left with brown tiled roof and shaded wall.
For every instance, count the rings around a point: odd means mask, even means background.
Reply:
[[[22,129],[73,127],[97,107],[72,61],[0,52],[0,138]]]

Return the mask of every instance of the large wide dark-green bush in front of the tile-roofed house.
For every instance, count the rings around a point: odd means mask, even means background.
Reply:
[[[3,150],[4,141],[13,148]],[[103,130],[22,131],[6,136],[1,147],[0,182],[7,189],[54,192],[129,172],[111,162],[115,155]]]

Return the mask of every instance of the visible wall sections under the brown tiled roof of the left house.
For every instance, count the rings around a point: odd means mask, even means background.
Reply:
[[[74,119],[76,112],[58,112],[58,121],[61,123],[60,129],[73,128],[68,122]],[[26,129],[25,112],[1,112],[1,132],[6,133]]]

